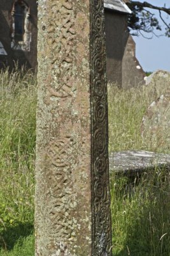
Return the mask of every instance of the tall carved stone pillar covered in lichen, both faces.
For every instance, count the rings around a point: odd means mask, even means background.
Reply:
[[[110,256],[103,0],[39,0],[36,256]]]

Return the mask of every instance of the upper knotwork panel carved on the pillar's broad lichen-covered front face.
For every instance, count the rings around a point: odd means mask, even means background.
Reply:
[[[48,84],[48,95],[46,103],[50,104],[52,97],[66,98],[73,95],[71,88],[73,81],[71,76],[73,72],[73,41],[74,14],[73,1],[60,0],[49,1],[48,10],[50,22],[47,26],[48,47],[50,47],[50,60],[52,80]],[[53,19],[52,19],[53,17]]]

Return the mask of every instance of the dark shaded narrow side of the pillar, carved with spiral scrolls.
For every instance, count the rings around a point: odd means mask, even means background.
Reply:
[[[111,256],[111,218],[108,173],[108,108],[103,0],[91,0],[92,99],[92,255]]]

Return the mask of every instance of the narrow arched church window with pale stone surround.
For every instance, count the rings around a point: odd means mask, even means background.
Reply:
[[[24,0],[15,0],[11,11],[11,48],[30,51],[31,28],[29,6]]]

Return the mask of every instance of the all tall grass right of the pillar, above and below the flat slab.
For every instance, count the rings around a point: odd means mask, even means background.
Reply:
[[[110,151],[167,151],[166,134],[142,140],[141,122],[161,88],[108,88]],[[159,90],[160,89],[160,90]],[[168,136],[168,134],[167,134]],[[160,143],[161,141],[161,143]],[[162,143],[163,141],[163,143]],[[113,255],[170,255],[170,176],[166,168],[143,173],[132,185],[129,178],[111,175]]]

